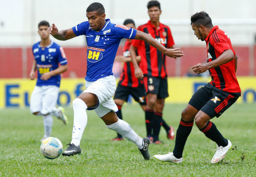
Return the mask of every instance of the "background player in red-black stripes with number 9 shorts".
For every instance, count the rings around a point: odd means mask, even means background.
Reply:
[[[172,49],[174,40],[171,35],[171,30],[168,26],[159,22],[162,13],[160,3],[153,0],[148,2],[147,7],[150,20],[147,24],[139,26],[137,30],[148,33],[156,41],[161,43],[161,45]],[[141,56],[141,69],[138,67],[137,62],[132,61],[132,63],[135,66],[135,76],[139,79],[143,78],[147,92],[147,106],[145,110],[147,136],[150,137],[154,143],[162,144],[158,137],[161,125],[163,125],[167,132],[167,138],[171,140],[174,139],[173,127],[163,121],[165,98],[169,96],[166,56],[142,40],[132,41],[132,46],[130,47],[131,56],[135,55],[136,50]]]

